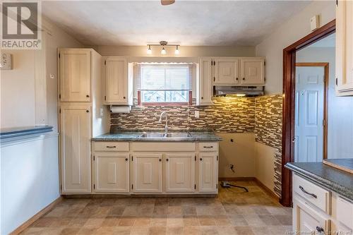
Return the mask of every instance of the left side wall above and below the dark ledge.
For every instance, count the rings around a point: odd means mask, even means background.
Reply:
[[[43,26],[47,30],[44,61],[38,61],[41,52],[4,50],[13,54],[14,67],[1,71],[1,128],[33,126],[36,117],[45,114],[44,123],[54,126],[54,131],[25,142],[1,143],[0,234],[13,231],[59,197],[56,49],[83,45],[47,20]],[[43,72],[46,76],[38,78]],[[38,82],[45,85],[43,90],[36,90]],[[47,99],[36,99],[41,96]]]

